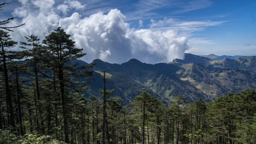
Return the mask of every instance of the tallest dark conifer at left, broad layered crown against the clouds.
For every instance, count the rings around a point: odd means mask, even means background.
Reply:
[[[70,39],[70,35],[64,32],[64,29],[58,27],[55,32],[52,32],[42,41],[46,46],[43,47],[43,52],[39,56],[40,61],[47,64],[46,70],[52,70],[55,78],[58,79],[61,101],[62,101],[62,114],[64,120],[64,135],[65,142],[69,143],[68,134],[68,117],[67,117],[67,96],[66,90],[70,88],[75,91],[84,91],[89,79],[84,82],[74,82],[74,78],[88,77],[92,75],[92,71],[86,71],[87,68],[92,68],[94,64],[87,66],[77,67],[77,63],[72,63],[72,60],[81,58],[86,55],[82,53],[82,49],[75,48],[75,42]],[[47,72],[41,72],[48,77],[53,78]],[[56,75],[55,75],[56,74]]]

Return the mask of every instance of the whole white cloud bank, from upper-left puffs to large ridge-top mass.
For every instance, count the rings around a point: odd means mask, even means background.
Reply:
[[[13,36],[14,40],[25,41],[23,37],[30,34],[42,40],[61,26],[76,41],[76,47],[83,48],[83,52],[87,53],[81,58],[86,62],[99,58],[110,63],[123,63],[136,58],[155,64],[170,62],[175,58],[182,59],[184,51],[189,49],[187,38],[178,36],[174,30],[130,28],[125,22],[126,16],[118,9],[112,9],[107,14],[98,12],[82,18],[77,12],[66,16],[70,10],[68,8],[86,7],[76,0],[66,0],[55,9],[53,0],[44,1],[44,4],[40,0],[35,0],[32,4],[22,4],[22,7],[15,9],[14,15],[21,17],[22,23],[26,24],[15,31],[17,34]],[[28,9],[28,5],[35,8]]]

